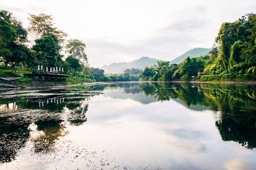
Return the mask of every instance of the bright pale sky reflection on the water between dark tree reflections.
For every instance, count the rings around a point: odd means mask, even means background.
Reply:
[[[256,168],[255,149],[248,150],[236,142],[222,141],[215,126],[216,113],[190,110],[172,99],[143,104],[143,99],[151,99],[141,96],[141,92],[125,94],[123,89],[104,92],[90,99],[85,113],[87,122],[82,125],[67,123],[70,115],[67,108],[60,113],[68,134],[55,141],[54,153],[31,153],[30,140],[17,153],[16,160],[4,166],[10,169],[83,169],[84,165],[91,164],[89,169],[93,169],[92,164],[101,164],[99,153],[104,153],[131,169]],[[120,92],[122,96],[118,95]],[[110,162],[105,160],[106,164]],[[0,169],[2,167],[0,165]],[[94,168],[101,168],[98,167]]]

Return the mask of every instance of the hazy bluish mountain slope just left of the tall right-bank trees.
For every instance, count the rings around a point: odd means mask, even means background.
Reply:
[[[211,51],[211,48],[193,48],[192,50],[189,50],[186,53],[183,53],[179,57],[173,59],[170,61],[171,64],[179,64],[182,62],[184,59],[186,59],[188,56],[193,58],[193,57],[200,57],[209,54]]]

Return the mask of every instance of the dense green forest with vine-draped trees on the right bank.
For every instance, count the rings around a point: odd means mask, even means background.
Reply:
[[[145,67],[140,80],[255,80],[256,15],[248,13],[235,22],[224,22],[209,53],[188,56],[180,64],[157,62],[157,66]],[[199,70],[204,74],[198,78]]]

